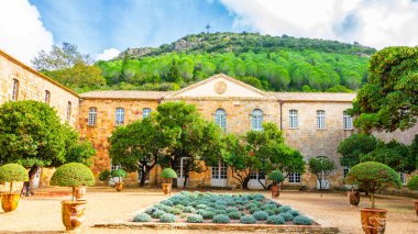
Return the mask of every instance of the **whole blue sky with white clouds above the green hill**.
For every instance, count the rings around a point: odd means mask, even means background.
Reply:
[[[359,42],[418,44],[418,0],[0,0],[0,49],[23,63],[73,43],[96,59],[160,46],[187,34],[258,32]]]

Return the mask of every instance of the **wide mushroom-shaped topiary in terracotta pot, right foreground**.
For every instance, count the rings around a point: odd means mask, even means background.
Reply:
[[[360,209],[364,233],[384,233],[387,210],[375,208],[374,193],[386,187],[400,187],[399,175],[384,164],[365,161],[351,168],[346,176],[346,181],[358,185],[360,189],[369,192],[371,196],[372,207]]]

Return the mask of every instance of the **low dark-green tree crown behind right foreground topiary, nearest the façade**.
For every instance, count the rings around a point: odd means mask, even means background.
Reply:
[[[342,156],[342,166],[353,167],[360,163],[360,155],[373,152],[378,140],[364,133],[353,134],[340,142],[337,152]]]

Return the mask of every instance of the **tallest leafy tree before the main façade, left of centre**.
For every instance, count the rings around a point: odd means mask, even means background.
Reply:
[[[211,166],[221,160],[221,129],[213,122],[205,121],[195,105],[185,102],[162,103],[157,107],[155,121],[164,138],[160,164],[178,170],[184,158],[184,186],[189,171],[205,170],[202,161]]]

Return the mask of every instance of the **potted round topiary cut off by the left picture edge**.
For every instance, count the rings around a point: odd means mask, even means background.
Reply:
[[[28,180],[28,171],[19,164],[6,164],[0,167],[0,183],[10,183],[9,192],[1,194],[1,208],[4,212],[14,211],[19,204],[20,192],[13,192],[13,182]]]

